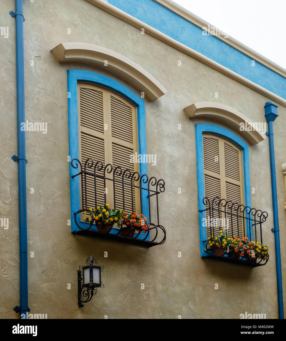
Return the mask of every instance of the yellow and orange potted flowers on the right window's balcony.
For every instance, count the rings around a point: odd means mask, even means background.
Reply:
[[[221,246],[221,248],[220,248]],[[248,260],[256,258],[266,260],[269,257],[269,245],[263,245],[261,242],[249,241],[247,237],[227,237],[226,231],[219,231],[217,237],[213,235],[207,238],[207,248],[213,250],[215,255],[223,255],[229,249],[229,255],[232,258],[245,257]],[[222,252],[216,252],[216,248]],[[207,249],[205,249],[207,251]]]

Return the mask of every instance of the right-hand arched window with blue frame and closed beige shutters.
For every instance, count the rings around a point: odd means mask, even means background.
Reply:
[[[221,223],[215,224],[210,233],[211,219],[228,218],[229,221],[222,223],[229,224],[224,226],[228,227],[229,235],[249,237],[249,228],[243,225],[243,219],[237,217],[237,211],[232,211],[239,205],[251,207],[248,145],[239,136],[215,124],[196,124],[195,134],[200,244],[203,257],[207,255],[204,250],[207,236],[213,232],[217,234],[222,227]],[[205,197],[208,202],[204,202]],[[222,205],[212,208],[215,197],[222,199]],[[235,206],[223,207],[223,204],[229,201],[236,203]],[[250,233],[252,235],[252,232]]]

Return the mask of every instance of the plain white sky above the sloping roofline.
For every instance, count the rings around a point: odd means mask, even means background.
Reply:
[[[173,0],[286,69],[286,0]]]

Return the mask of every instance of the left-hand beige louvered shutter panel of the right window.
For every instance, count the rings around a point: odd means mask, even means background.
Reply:
[[[203,135],[203,151],[204,151],[204,178],[205,178],[205,196],[209,199],[210,204],[215,197],[222,196],[221,193],[221,161],[220,161],[220,144],[219,137],[215,135]],[[208,207],[208,206],[207,206]],[[206,207],[206,208],[207,208]],[[216,206],[217,207],[217,206]],[[219,218],[217,211],[206,211],[206,218]],[[221,217],[221,215],[220,215]],[[207,220],[207,235],[211,234],[210,224]],[[215,235],[218,234],[220,228],[214,227]],[[213,228],[212,228],[213,232]]]

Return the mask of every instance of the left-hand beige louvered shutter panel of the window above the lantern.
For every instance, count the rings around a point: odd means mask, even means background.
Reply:
[[[78,84],[78,106],[79,106],[79,146],[80,161],[84,170],[84,163],[88,158],[106,163],[106,139],[104,130],[104,107],[105,94],[100,88],[87,84]],[[93,168],[87,171],[93,173]],[[103,175],[103,172],[97,172]],[[97,203],[95,203],[94,177],[86,176],[86,186],[83,184],[84,208],[104,205],[104,182],[96,179]],[[86,202],[85,202],[86,195]]]

